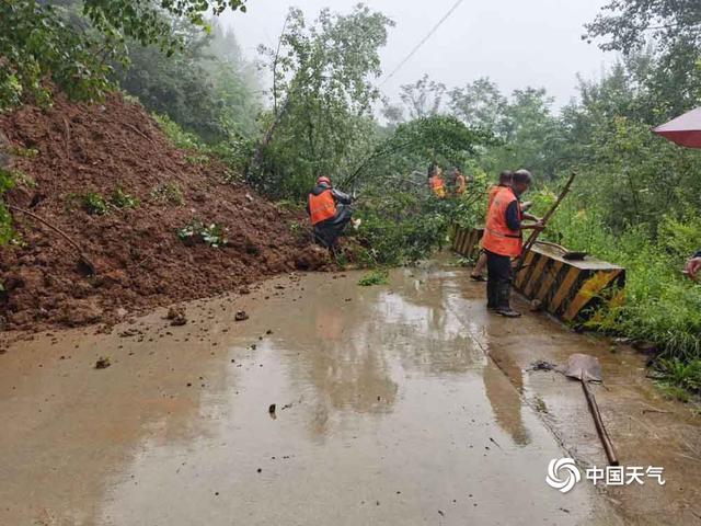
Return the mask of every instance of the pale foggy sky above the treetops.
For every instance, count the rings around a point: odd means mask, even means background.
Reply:
[[[450,9],[456,0],[369,0],[390,16],[388,45],[381,50],[390,73]],[[227,15],[249,58],[258,44],[272,46],[290,5],[309,20],[323,7],[348,12],[357,0],[249,0],[248,13]],[[490,77],[502,92],[545,88],[562,106],[576,94],[576,73],[599,77],[612,56],[582,41],[583,24],[608,0],[464,0],[438,32],[391,78],[382,92],[398,100],[399,87],[428,73],[448,88]],[[265,79],[264,79],[265,81]],[[265,84],[267,82],[265,81]]]

